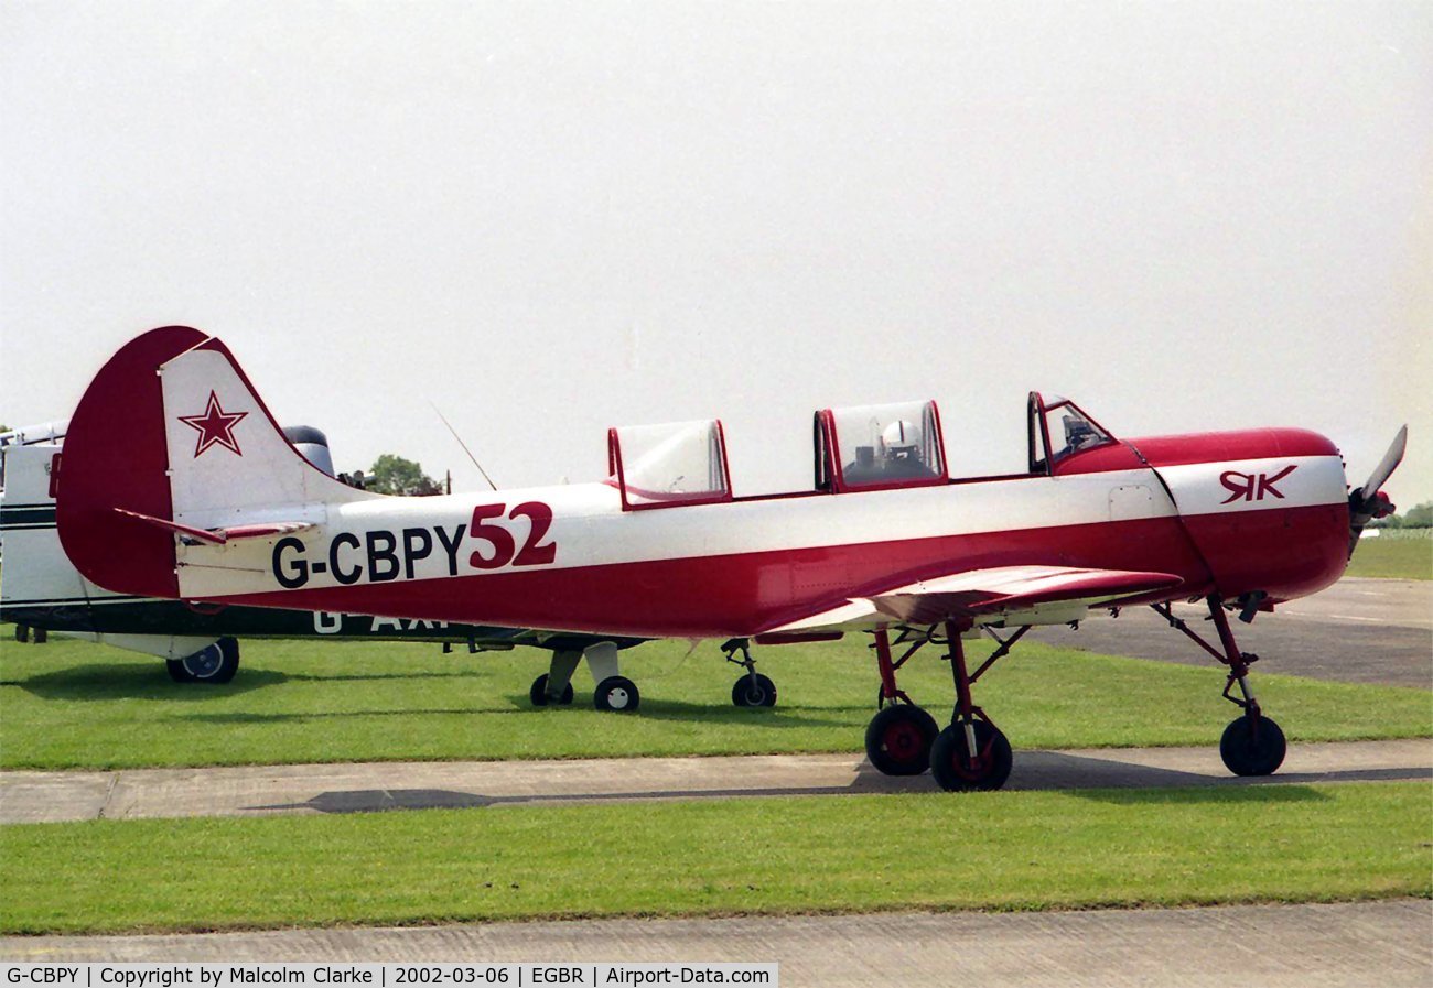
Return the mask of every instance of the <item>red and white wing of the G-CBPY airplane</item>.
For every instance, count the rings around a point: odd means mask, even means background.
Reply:
[[[1070,566],[999,566],[966,570],[853,597],[844,604],[765,629],[764,634],[811,631],[851,624],[936,624],[944,620],[1033,611],[1052,604],[1099,607],[1128,597],[1169,590],[1172,573],[1089,570]]]

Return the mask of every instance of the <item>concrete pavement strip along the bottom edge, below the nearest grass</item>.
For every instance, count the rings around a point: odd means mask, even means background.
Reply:
[[[794,985],[1433,984],[1433,902],[7,936],[11,961],[778,962]]]

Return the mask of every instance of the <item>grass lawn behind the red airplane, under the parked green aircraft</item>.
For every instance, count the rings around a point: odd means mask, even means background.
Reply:
[[[9,629],[6,629],[9,631]],[[1171,649],[1192,646],[1171,634]],[[937,717],[953,689],[934,649],[901,686]],[[989,652],[972,647],[972,656]],[[623,653],[642,689],[635,716],[590,707],[579,669],[572,707],[533,710],[546,653],[443,654],[438,646],[244,643],[226,686],[175,684],[158,659],[52,639],[0,641],[0,766],[135,767],[381,759],[516,759],[861,750],[877,676],[860,639],[759,649],[775,709],[731,706],[738,670],[715,643]],[[1274,663],[1267,663],[1273,666]],[[1257,673],[1291,742],[1433,736],[1427,690]],[[976,697],[1016,747],[1215,745],[1235,709],[1222,669],[1022,644]]]

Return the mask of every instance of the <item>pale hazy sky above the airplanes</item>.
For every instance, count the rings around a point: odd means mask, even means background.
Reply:
[[[1304,425],[1433,497],[1433,3],[0,6],[0,421],[130,335],[222,336],[340,470],[605,473],[719,415],[934,397],[1022,470]]]

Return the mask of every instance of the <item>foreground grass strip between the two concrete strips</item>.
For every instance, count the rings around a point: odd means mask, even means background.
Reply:
[[[1426,783],[748,799],[0,829],[0,932],[1433,893]]]

